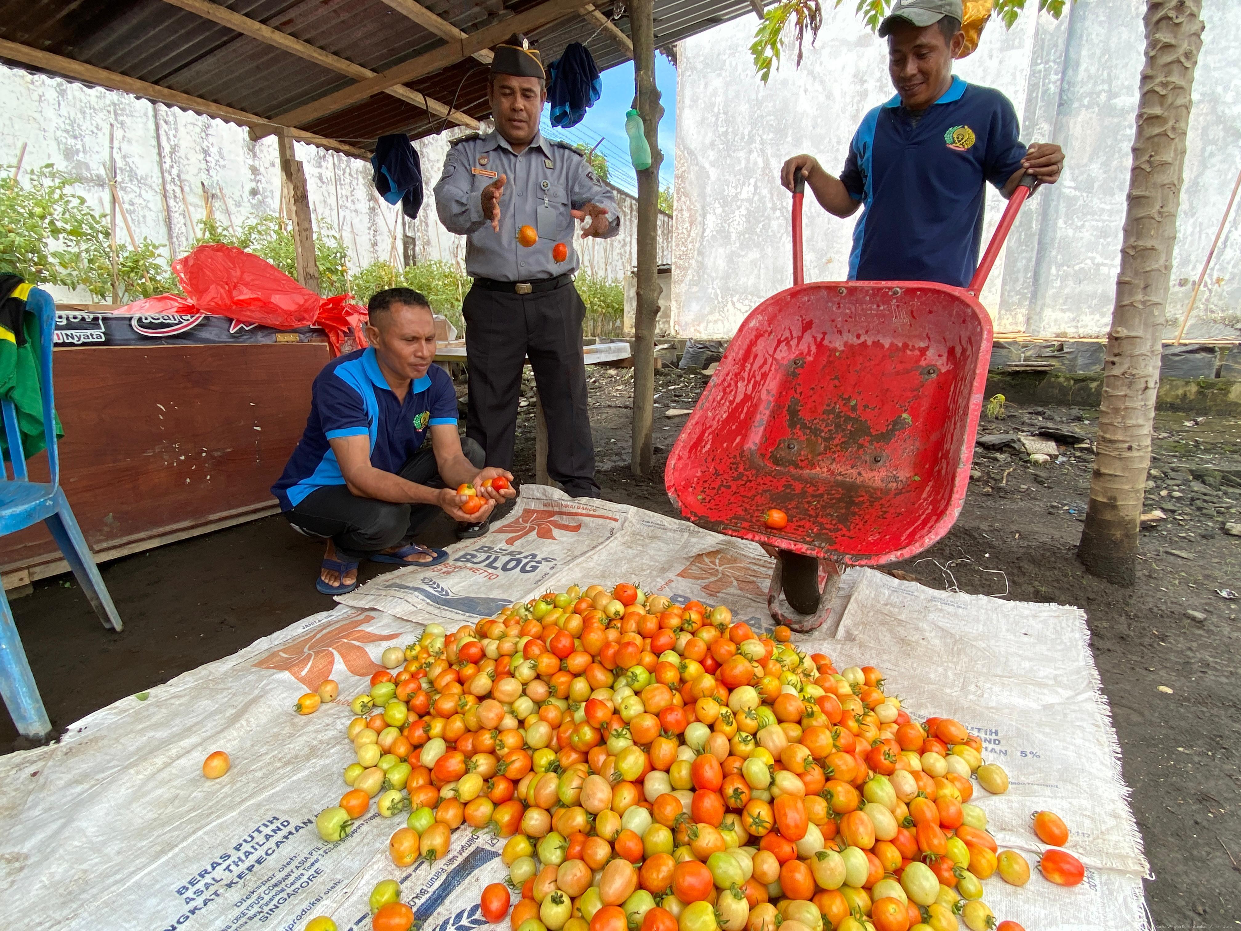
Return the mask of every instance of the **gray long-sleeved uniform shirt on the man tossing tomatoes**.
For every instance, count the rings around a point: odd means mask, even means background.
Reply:
[[[500,194],[500,232],[483,216],[483,189],[505,175]],[[453,143],[444,174],[436,185],[436,211],[449,232],[465,236],[465,272],[472,278],[529,282],[555,278],[578,268],[575,248],[581,233],[570,210],[586,204],[607,207],[611,238],[620,231],[620,216],[612,189],[599,181],[576,149],[550,143],[540,133],[520,154],[498,132],[465,137]],[[517,242],[517,230],[532,226],[539,242]],[[563,242],[568,256],[552,258],[552,247]]]

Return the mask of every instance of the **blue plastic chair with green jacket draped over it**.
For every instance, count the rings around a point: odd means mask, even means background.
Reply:
[[[10,479],[5,463],[0,462],[0,535],[24,530],[40,520],[45,521],[56,545],[65,554],[69,569],[77,576],[78,585],[91,601],[91,607],[103,621],[103,626],[119,631],[120,617],[60,484],[56,420],[52,415],[52,334],[56,331],[56,304],[47,292],[31,288],[26,307],[38,315],[38,385],[43,395],[43,434],[47,438],[47,468],[52,480],[46,484],[30,480],[21,448],[21,431],[17,428],[17,410],[12,401],[0,401],[0,408],[4,410],[5,437],[9,441],[9,458],[12,463]],[[38,696],[38,686],[35,685],[30,663],[26,662],[26,650],[21,648],[17,627],[12,622],[9,598],[5,597],[2,588],[0,588],[0,694],[4,695],[12,722],[22,736],[42,740],[52,732],[47,710]]]

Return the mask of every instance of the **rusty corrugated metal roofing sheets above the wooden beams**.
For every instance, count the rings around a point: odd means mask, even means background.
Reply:
[[[432,12],[467,32],[536,6],[541,0],[428,0]],[[444,40],[382,0],[222,0],[222,6],[355,65],[385,71]],[[597,4],[608,12],[611,4]],[[655,45],[671,46],[751,11],[748,0],[656,0]],[[628,17],[616,24],[629,31]],[[599,70],[627,56],[596,22],[566,16],[539,30],[544,61],[583,42]],[[192,94],[277,117],[354,83],[354,78],[236,32],[164,0],[0,0],[0,38]],[[17,67],[29,67],[17,62]],[[486,71],[468,58],[408,84],[473,117],[488,115]],[[380,93],[304,127],[371,148],[377,135],[437,133],[443,118]]]

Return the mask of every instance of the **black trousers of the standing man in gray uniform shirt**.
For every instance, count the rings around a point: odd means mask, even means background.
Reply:
[[[469,355],[465,436],[486,464],[513,468],[521,369],[530,358],[547,421],[547,474],[575,498],[597,498],[594,441],[586,408],[582,304],[566,283],[540,294],[470,288],[462,305]]]

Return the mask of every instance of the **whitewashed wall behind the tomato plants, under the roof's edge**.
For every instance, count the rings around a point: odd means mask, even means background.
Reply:
[[[174,257],[185,254],[194,237],[192,227],[202,220],[204,185],[210,189],[216,217],[225,226],[230,214],[240,227],[252,215],[279,212],[280,173],[273,137],[256,143],[248,130],[232,123],[2,66],[0,101],[4,101],[0,107],[0,164],[14,163],[25,143],[22,171],[53,164],[78,179],[74,190],[92,207],[104,212],[109,209],[110,127],[117,187],[134,235],[139,241],[145,237],[171,245]],[[315,228],[330,225],[341,232],[351,269],[361,269],[375,259],[388,259],[393,254],[393,232],[397,254],[405,253],[402,236],[408,235],[417,261],[443,259],[462,267],[464,237],[439,225],[431,191],[439,179],[452,135],[449,130],[417,143],[426,200],[417,220],[405,223],[407,232],[401,228],[400,205],[377,202],[369,163],[297,144],[298,158],[305,166]],[[622,281],[629,273],[637,250],[637,200],[623,191],[617,192],[617,200],[620,235],[607,241],[591,240],[585,248],[578,248],[585,271]],[[120,242],[127,241],[119,217],[117,236]],[[670,253],[671,217],[661,215],[659,261],[669,261]],[[84,290],[51,290],[60,299],[91,299]]]

